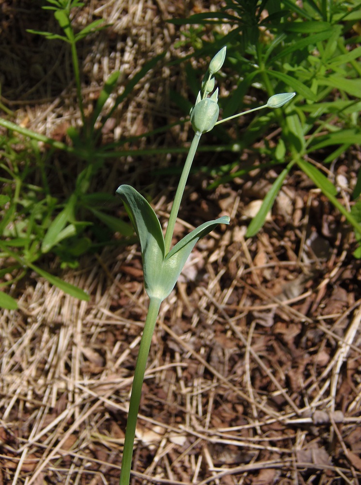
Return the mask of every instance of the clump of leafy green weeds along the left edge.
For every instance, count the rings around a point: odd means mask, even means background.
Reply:
[[[128,141],[124,139],[118,144],[101,146],[99,138],[104,123],[163,55],[145,62],[141,70],[128,81],[123,93],[116,97],[110,112],[103,113],[104,105],[114,92],[119,79],[119,72],[110,74],[100,92],[91,118],[86,119],[82,107],[76,44],[87,35],[107,26],[103,25],[102,20],[96,20],[75,33],[70,12],[74,8],[82,7],[83,3],[74,0],[47,2],[49,5],[43,8],[53,11],[64,35],[42,31],[29,32],[44,35],[50,40],[60,39],[70,45],[83,126],[80,129],[68,130],[73,142],[72,146],[68,146],[0,118],[0,126],[8,130],[7,136],[0,138],[0,169],[6,174],[0,178],[4,187],[4,193],[0,196],[0,258],[15,261],[0,274],[0,288],[16,282],[25,275],[27,269],[32,269],[74,297],[88,299],[88,295],[83,291],[44,271],[35,265],[35,262],[52,255],[60,259],[62,268],[76,268],[81,255],[94,252],[98,246],[109,244],[114,232],[118,232],[124,238],[132,236],[131,226],[108,213],[115,204],[115,197],[101,193],[89,194],[88,191],[105,160],[125,153],[119,148]],[[95,128],[96,123],[99,124],[98,128]],[[45,143],[50,149],[41,152],[38,142]],[[78,160],[77,166],[80,167],[73,192],[65,199],[53,195],[59,193],[59,187],[53,186],[51,169],[54,149]],[[34,183],[34,179],[38,180],[38,183]],[[7,273],[14,275],[10,282],[3,280]],[[16,301],[0,291],[0,307],[15,308]]]

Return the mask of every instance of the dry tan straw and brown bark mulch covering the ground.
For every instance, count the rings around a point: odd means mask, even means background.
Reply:
[[[104,16],[114,37],[103,32],[83,53],[89,100],[112,69],[127,76],[149,52],[172,46],[179,32],[164,18],[186,15],[187,8],[159,0],[90,1],[78,21]],[[54,59],[54,72],[60,67]],[[150,76],[121,107],[115,139],[156,126],[160,112],[154,107],[170,86],[186,89],[180,73],[166,74],[163,67],[162,83]],[[71,79],[64,76],[66,89],[55,100],[50,78],[39,81],[51,101],[28,99],[18,121],[27,116],[30,128],[47,134],[64,121],[76,124]],[[37,93],[30,86],[26,92]],[[12,106],[21,106],[19,91],[12,96]],[[168,119],[172,109],[163,111]],[[141,167],[133,177],[144,178]],[[114,179],[107,183],[102,190],[112,190]],[[161,307],[144,381],[133,484],[356,485],[360,264],[349,255],[342,224],[327,257],[317,252],[309,237],[312,208],[323,212],[326,202],[292,181],[283,192],[291,213],[280,204],[278,226],[268,224],[246,241],[242,214],[249,185],[240,183],[242,200],[236,185],[206,199],[200,186],[188,190],[183,219],[227,212],[232,226],[198,245]],[[164,220],[172,184],[156,198]],[[254,190],[261,197],[265,189]],[[178,236],[186,230],[177,225]],[[64,275],[91,294],[90,303],[33,276],[20,310],[1,314],[0,483],[117,484],[148,304],[139,248],[106,249]]]

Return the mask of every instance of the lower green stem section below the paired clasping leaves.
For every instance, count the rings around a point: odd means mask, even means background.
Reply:
[[[130,396],[128,420],[126,422],[126,437],[124,441],[122,458],[122,470],[120,473],[119,485],[129,485],[130,470],[132,467],[135,428],[137,425],[139,403],[141,401],[141,387],[143,384],[145,367],[147,364],[150,344],[152,341],[154,327],[157,322],[160,304],[161,300],[157,298],[150,299],[147,318],[144,323],[143,335],[141,337],[141,345],[139,347],[137,364],[135,366],[132,393]]]

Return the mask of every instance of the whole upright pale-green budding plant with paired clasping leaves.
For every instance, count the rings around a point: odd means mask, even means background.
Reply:
[[[181,241],[177,242],[171,249],[175,221],[201,135],[210,131],[219,123],[245,114],[239,113],[235,116],[217,121],[220,110],[218,106],[218,88],[213,91],[215,86],[213,75],[222,67],[225,56],[226,48],[223,47],[211,60],[202,82],[203,93],[201,91],[199,92],[196,103],[190,111],[190,121],[195,134],[174,197],[165,236],[163,236],[156,213],[141,194],[129,185],[121,185],[116,191],[123,200],[130,222],[141,243],[144,288],[150,299],[129,403],[120,485],[129,485],[135,429],[141,399],[141,387],[160,304],[173,290],[178,276],[196,242],[206,236],[219,224],[229,224],[230,222],[228,216],[205,222],[190,232]],[[212,91],[213,94],[211,94]],[[262,108],[279,108],[294,96],[295,93],[283,93],[271,96],[267,104],[249,110],[247,113]]]

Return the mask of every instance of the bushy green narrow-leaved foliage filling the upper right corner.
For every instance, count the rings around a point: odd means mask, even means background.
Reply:
[[[357,234],[360,225],[336,196],[336,188],[322,171],[305,160],[323,159],[325,164],[343,156],[361,139],[360,97],[361,48],[352,26],[361,19],[361,2],[356,0],[228,0],[218,12],[173,19],[182,25],[212,25],[215,44],[227,42],[227,78],[236,86],[229,99],[222,100],[223,117],[230,117],[243,105],[246,93],[254,97],[272,96],[290,86],[297,96],[282,113],[255,118],[233,146],[253,149],[253,142],[277,122],[282,133],[276,146],[262,149],[269,162],[285,164],[267,195],[260,213],[247,235],[254,235],[264,224],[282,181],[297,165],[346,217]],[[220,26],[232,30],[226,39]],[[200,35],[202,38],[202,35]],[[197,46],[201,56],[210,44]],[[196,46],[194,46],[196,47]],[[219,132],[220,137],[224,136]],[[224,140],[221,140],[224,143]],[[230,145],[229,138],[226,143]],[[231,145],[232,146],[232,145]],[[327,151],[324,149],[327,147]],[[239,161],[215,170],[218,175],[210,188],[239,177],[252,166],[239,167]],[[238,169],[237,169],[238,168]],[[230,171],[232,170],[232,173]],[[359,184],[361,186],[361,184]],[[332,187],[331,187],[332,186]],[[359,191],[360,192],[360,191]]]

